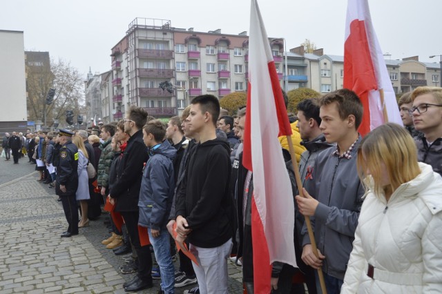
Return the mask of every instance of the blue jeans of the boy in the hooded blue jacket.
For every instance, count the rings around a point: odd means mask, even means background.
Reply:
[[[160,266],[161,288],[166,294],[175,293],[175,268],[171,257],[171,243],[169,232],[164,229],[160,231],[160,236],[154,238],[151,229],[148,228],[149,240],[153,246],[155,258]]]

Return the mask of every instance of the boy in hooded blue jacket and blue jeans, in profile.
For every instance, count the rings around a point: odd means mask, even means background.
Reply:
[[[147,228],[161,273],[162,293],[175,293],[175,268],[171,258],[169,233],[166,229],[171,213],[175,176],[173,159],[176,150],[164,139],[166,128],[155,119],[143,128],[143,141],[149,152],[140,189],[140,226]]]

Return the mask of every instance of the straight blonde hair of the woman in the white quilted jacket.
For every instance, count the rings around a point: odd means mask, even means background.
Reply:
[[[378,126],[362,139],[357,168],[363,183],[366,183],[367,170],[370,171],[377,196],[382,193],[391,195],[398,186],[421,173],[413,138],[405,128],[392,123]],[[383,168],[390,178],[389,186],[381,185]]]

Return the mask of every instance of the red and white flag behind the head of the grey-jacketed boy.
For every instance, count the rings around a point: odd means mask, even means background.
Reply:
[[[388,121],[403,125],[367,0],[348,1],[343,86],[361,98],[362,135]]]

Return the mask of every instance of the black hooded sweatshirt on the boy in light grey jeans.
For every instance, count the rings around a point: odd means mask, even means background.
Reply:
[[[188,239],[195,246],[218,247],[233,235],[229,152],[229,143],[218,138],[191,149],[175,204],[176,216],[185,217],[192,229]]]

